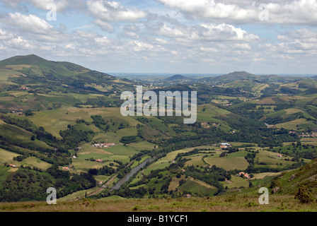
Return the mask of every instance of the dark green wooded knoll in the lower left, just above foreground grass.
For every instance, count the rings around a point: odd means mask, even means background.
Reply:
[[[49,187],[57,189],[57,198],[60,198],[93,186],[96,186],[96,180],[90,174],[70,174],[57,167],[50,167],[45,172],[23,167],[4,181],[0,202],[45,201]]]

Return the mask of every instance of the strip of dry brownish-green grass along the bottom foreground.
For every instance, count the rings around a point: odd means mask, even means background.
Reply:
[[[301,204],[294,196],[271,195],[268,205],[260,205],[260,194],[238,194],[212,198],[109,199],[0,203],[1,212],[316,212],[316,203]]]

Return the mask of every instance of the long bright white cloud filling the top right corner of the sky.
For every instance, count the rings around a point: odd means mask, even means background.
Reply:
[[[169,8],[175,8],[186,18],[220,23],[283,23],[317,25],[317,0],[292,1],[214,1],[214,0],[157,0]],[[268,10],[267,21],[259,19],[260,4]]]

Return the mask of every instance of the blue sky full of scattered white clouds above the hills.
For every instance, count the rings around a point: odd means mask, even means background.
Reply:
[[[0,0],[0,60],[105,73],[317,74],[317,0]]]

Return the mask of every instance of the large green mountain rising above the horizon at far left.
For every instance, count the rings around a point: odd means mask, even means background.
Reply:
[[[92,71],[70,62],[48,61],[34,54],[5,59],[0,61],[0,67],[22,73],[23,75],[8,78],[8,81],[19,85],[51,83],[53,86],[90,91],[93,91],[92,84],[113,85],[114,81],[122,81],[129,85],[127,80],[115,78],[107,73]],[[1,76],[5,75],[2,73]]]

